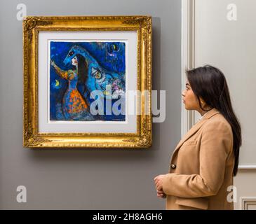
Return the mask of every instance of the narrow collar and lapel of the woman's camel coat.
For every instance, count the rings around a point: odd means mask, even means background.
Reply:
[[[206,123],[206,121],[208,119],[210,119],[211,117],[215,116],[215,114],[220,113],[220,111],[218,111],[217,109],[213,108],[210,111],[208,111],[208,113],[206,113],[205,116],[203,116],[201,118],[201,120],[199,120],[193,127],[191,127],[191,129],[187,132],[187,134],[184,135],[184,137],[182,138],[182,140],[180,140],[180,142],[177,144],[175,150],[173,151],[173,154],[175,153],[175,151],[177,151],[178,148],[180,148],[180,146],[182,146],[182,144],[184,143],[184,141],[186,141],[187,139],[189,139],[189,137],[191,137],[194,133],[196,133],[200,127],[202,127],[202,125],[204,123]]]

